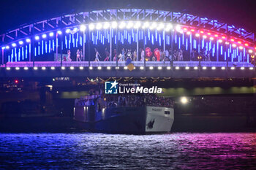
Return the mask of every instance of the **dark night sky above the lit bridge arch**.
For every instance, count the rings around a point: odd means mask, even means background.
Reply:
[[[115,7],[187,12],[256,31],[256,0],[1,0],[0,34],[24,23],[61,14]]]

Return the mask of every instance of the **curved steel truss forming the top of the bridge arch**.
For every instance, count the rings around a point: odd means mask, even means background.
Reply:
[[[76,26],[81,23],[94,23],[111,20],[150,20],[172,22],[186,26],[193,26],[195,28],[205,28],[211,31],[218,31],[229,36],[236,36],[240,39],[252,42],[253,44],[255,43],[255,34],[244,30],[244,28],[236,28],[236,26],[229,26],[227,23],[220,23],[217,20],[200,18],[199,16],[189,15],[186,13],[157,9],[102,9],[63,15],[57,18],[42,20],[37,23],[23,25],[15,30],[8,31],[5,34],[0,35],[0,43],[3,45],[34,34],[40,34],[45,31],[52,31],[69,26]]]

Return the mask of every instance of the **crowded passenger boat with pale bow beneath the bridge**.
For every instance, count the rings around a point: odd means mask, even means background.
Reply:
[[[92,132],[167,133],[174,120],[173,101],[156,95],[91,94],[75,99],[74,120]]]

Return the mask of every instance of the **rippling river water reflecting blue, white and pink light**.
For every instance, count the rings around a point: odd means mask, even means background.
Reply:
[[[256,168],[256,133],[0,134],[0,169]]]

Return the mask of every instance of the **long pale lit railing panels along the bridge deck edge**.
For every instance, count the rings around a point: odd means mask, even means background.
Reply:
[[[140,66],[162,66],[162,67],[167,67],[167,66],[173,66],[173,67],[196,67],[196,66],[206,66],[206,67],[254,67],[252,63],[247,63],[247,62],[226,62],[226,61],[146,61],[145,63],[143,61],[132,61],[132,64],[135,67],[140,67]],[[34,63],[31,61],[20,61],[20,62],[13,62],[13,63],[6,63],[5,65],[1,65],[1,67],[69,67],[69,66],[74,66],[74,67],[116,67],[116,66],[127,66],[126,61],[65,61],[61,62],[60,61],[35,61]]]

